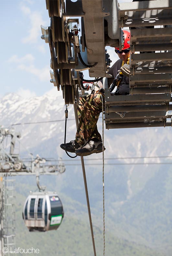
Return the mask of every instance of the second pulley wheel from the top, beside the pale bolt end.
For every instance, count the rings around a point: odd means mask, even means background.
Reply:
[[[52,41],[65,42],[65,17],[52,17]]]

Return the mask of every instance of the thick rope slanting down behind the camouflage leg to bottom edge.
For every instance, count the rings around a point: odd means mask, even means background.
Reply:
[[[76,103],[74,103],[74,113],[75,113],[76,128],[78,128],[79,121],[78,121]],[[87,188],[87,183],[86,183],[86,171],[85,171],[83,156],[81,156],[81,165],[82,165],[82,172],[83,172],[84,185],[85,185],[85,191],[86,191],[86,202],[87,202],[87,208],[88,208],[88,216],[89,216],[89,222],[90,222],[93,250],[94,250],[94,256],[96,256],[96,247],[95,247],[95,242],[94,242],[93,225],[92,225],[92,220],[91,220],[91,211],[90,211],[90,204],[89,204],[89,197],[88,197],[88,188]]]

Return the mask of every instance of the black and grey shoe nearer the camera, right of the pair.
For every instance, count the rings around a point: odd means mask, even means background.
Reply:
[[[105,150],[105,147],[104,147]],[[89,156],[93,153],[102,152],[102,142],[90,140],[83,148],[76,151],[77,156]]]

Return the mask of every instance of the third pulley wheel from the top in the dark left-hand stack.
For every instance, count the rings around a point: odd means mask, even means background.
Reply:
[[[56,44],[56,55],[58,64],[68,63],[68,46],[67,42],[57,42]]]

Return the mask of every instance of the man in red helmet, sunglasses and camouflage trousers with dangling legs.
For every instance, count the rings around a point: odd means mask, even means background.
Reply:
[[[115,78],[110,86],[110,91],[115,95],[129,94],[129,65],[127,62],[130,57],[130,32],[125,30],[123,32],[123,48],[121,51],[119,48],[115,48],[115,52],[120,59],[109,69],[109,74]],[[117,86],[117,89],[116,92],[113,92],[115,86]],[[101,91],[89,94],[86,98],[80,99],[82,104],[78,106],[79,126],[75,140],[61,144],[60,147],[62,149],[76,153],[78,156],[87,156],[102,152],[102,139],[97,130],[97,121],[102,112],[101,94],[103,95],[104,101],[104,93]]]

